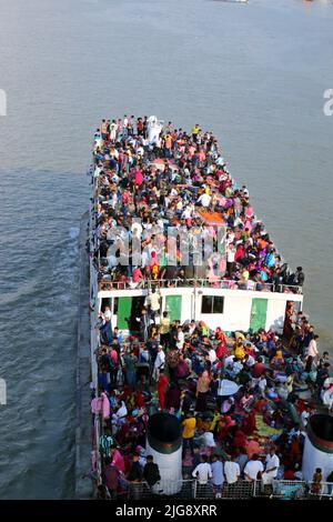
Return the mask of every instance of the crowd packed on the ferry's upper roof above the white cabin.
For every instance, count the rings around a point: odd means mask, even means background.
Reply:
[[[169,122],[150,143],[147,117],[103,120],[93,159],[93,257],[102,284],[173,285],[200,278],[213,285],[223,279],[231,288],[301,291],[302,267],[290,272],[212,132],[195,124],[188,133]]]

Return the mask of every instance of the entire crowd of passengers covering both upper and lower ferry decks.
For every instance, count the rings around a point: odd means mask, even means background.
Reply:
[[[150,144],[147,118],[103,120],[94,139],[93,180],[91,255],[100,281],[131,288],[145,280],[186,284],[198,277],[190,273],[201,248],[196,240],[212,233],[205,227],[210,211],[223,218],[226,235],[224,250],[218,244],[208,252],[202,277],[212,283],[226,277],[238,288],[252,282],[256,290],[271,283],[276,291],[283,283],[304,282],[301,267],[290,274],[254,215],[246,187],[232,180],[215,138],[198,124],[186,133],[169,122]],[[140,221],[133,223],[133,217]],[[168,264],[169,225],[185,228],[189,265],[181,242],[178,263]],[[142,248],[138,264],[124,248],[134,237]],[[158,411],[180,420],[183,476],[200,485],[221,492],[240,480],[264,485],[276,478],[301,480],[307,418],[319,404],[333,408],[329,353],[320,353],[306,317],[291,303],[283,335],[264,330],[226,335],[191,318],[171,321],[160,302],[157,285],[129,334],[112,328],[110,308],[100,313],[99,389],[91,403],[102,422],[100,494],[114,498],[141,482],[152,491],[159,483],[159,466],[145,453],[148,421]],[[327,480],[320,476],[314,482]]]

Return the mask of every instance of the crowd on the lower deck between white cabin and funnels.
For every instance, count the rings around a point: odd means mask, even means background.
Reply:
[[[214,491],[239,480],[302,479],[307,419],[320,405],[332,410],[333,404],[330,357],[320,354],[319,337],[304,315],[289,318],[302,332],[290,351],[273,331],[226,337],[202,321],[170,321],[168,312],[157,321],[159,311],[150,305],[142,310],[149,318],[145,340],[143,330],[125,338],[115,328],[110,343],[105,312],[92,411],[101,415],[102,440],[109,441],[101,452],[110,490],[147,480],[145,463],[152,462],[144,450],[147,425],[158,411],[182,423],[184,478]],[[305,400],[300,399],[304,389]],[[158,482],[158,470],[154,476]]]

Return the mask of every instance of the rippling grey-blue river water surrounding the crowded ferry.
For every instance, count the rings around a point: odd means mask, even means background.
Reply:
[[[70,499],[78,232],[101,118],[212,129],[280,250],[303,265],[305,310],[332,349],[333,7],[0,0],[0,498]]]

